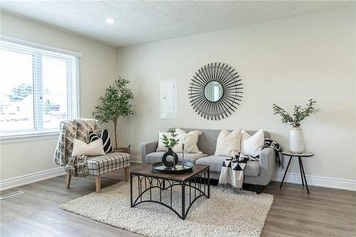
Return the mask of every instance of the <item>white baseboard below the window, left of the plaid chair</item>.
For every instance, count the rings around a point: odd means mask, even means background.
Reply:
[[[23,186],[26,184],[36,183],[45,179],[51,179],[66,174],[63,167],[58,167],[55,169],[48,169],[43,172],[36,172],[33,174],[26,174],[20,177],[15,177],[11,179],[5,179],[0,181],[0,191],[6,189],[13,189],[18,186]]]

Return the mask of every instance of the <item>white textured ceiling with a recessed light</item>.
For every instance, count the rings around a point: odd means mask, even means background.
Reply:
[[[117,47],[352,6],[356,1],[1,1],[1,10]]]

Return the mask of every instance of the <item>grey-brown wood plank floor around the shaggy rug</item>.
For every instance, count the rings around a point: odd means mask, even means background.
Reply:
[[[135,169],[137,165],[131,168]],[[123,180],[124,172],[102,177],[102,188]],[[24,194],[1,200],[1,236],[140,236],[58,209],[58,205],[95,191],[95,178],[65,176],[28,184]],[[356,236],[356,192],[271,182],[274,201],[261,236]],[[137,223],[140,224],[140,223]]]

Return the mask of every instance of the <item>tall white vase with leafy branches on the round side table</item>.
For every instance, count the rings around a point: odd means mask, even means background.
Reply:
[[[304,152],[303,132],[300,127],[300,122],[304,120],[305,117],[319,111],[315,108],[315,103],[315,100],[310,99],[305,108],[302,108],[300,105],[294,105],[293,115],[290,115],[290,113],[276,105],[276,103],[273,104],[274,114],[281,115],[282,123],[292,126],[289,135],[289,150],[292,153],[299,154]]]

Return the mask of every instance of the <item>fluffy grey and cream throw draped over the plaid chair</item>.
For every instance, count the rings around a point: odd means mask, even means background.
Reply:
[[[64,167],[65,172],[71,172],[73,176],[88,176],[87,157],[72,157],[72,150],[74,138],[80,139],[85,143],[89,142],[89,132],[96,134],[100,132],[98,120],[75,119],[62,121],[53,162],[60,167]]]

